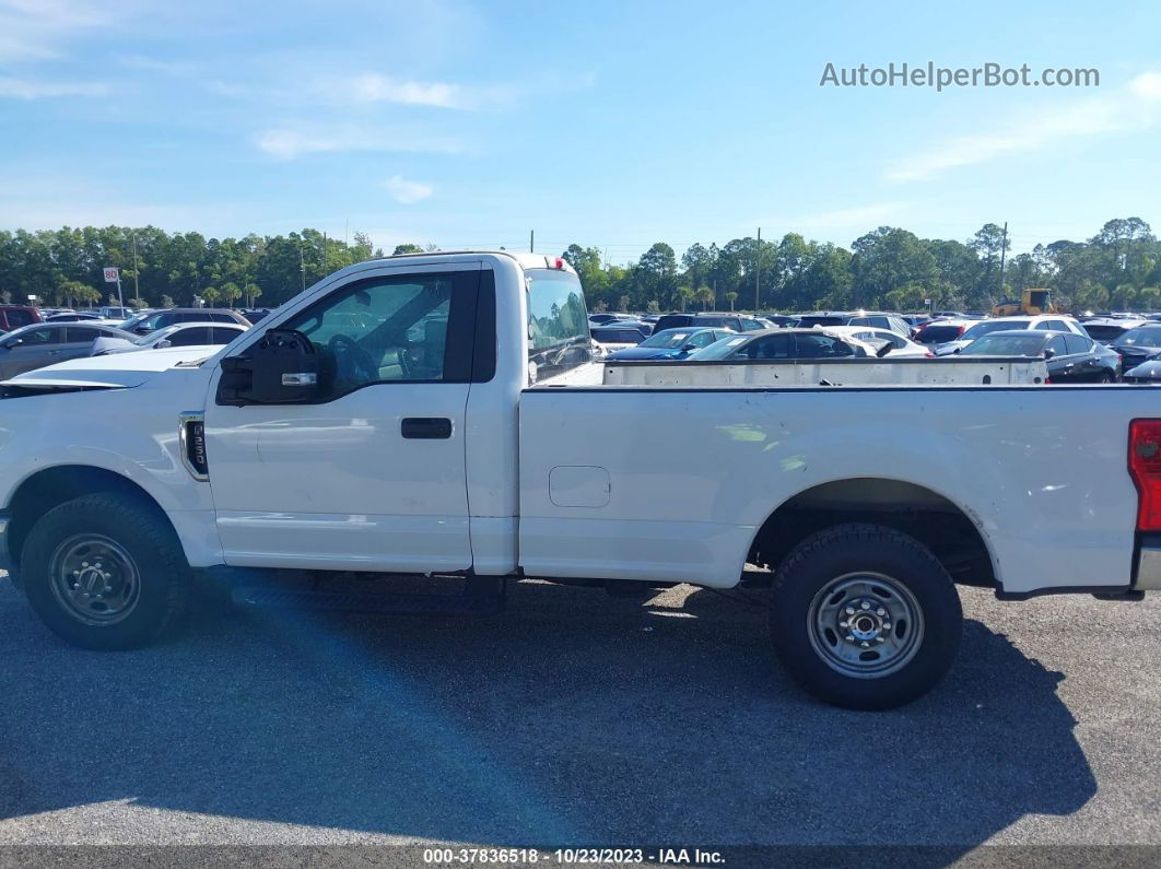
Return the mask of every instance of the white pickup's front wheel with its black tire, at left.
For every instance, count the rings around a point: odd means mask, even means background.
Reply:
[[[89,549],[84,549],[86,541]],[[95,551],[98,555],[88,557],[100,558],[100,550],[92,549],[93,545],[108,546],[109,560],[125,567],[118,571],[103,565],[109,574],[117,574],[113,581],[128,575],[131,580],[122,581],[121,588],[136,588],[124,595],[131,604],[125,603],[118,613],[111,614],[110,609],[104,614],[104,618],[116,617],[114,622],[86,622],[84,614],[77,614],[80,608],[67,602],[73,600],[81,580],[70,579],[77,572],[62,565],[71,566],[68,558],[85,557],[74,555],[78,552]],[[150,645],[178,625],[186,609],[190,570],[176,534],[156,506],[132,495],[99,492],[62,504],[33,526],[21,553],[20,575],[33,609],[53,633],[81,649],[114,651]],[[107,582],[101,574],[95,579],[86,577],[86,581]],[[89,591],[95,596],[108,588],[102,585]],[[93,606],[108,608],[106,603]],[[102,615],[88,610],[88,617]]]

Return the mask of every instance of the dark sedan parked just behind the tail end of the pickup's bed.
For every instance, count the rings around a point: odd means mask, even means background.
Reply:
[[[1117,354],[1088,335],[1043,330],[993,332],[959,350],[962,356],[1031,356],[1047,362],[1052,383],[1116,383]]]

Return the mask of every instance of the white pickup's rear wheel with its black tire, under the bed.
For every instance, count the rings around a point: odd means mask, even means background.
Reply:
[[[859,582],[864,575],[879,579]],[[889,581],[884,584],[884,578]],[[893,584],[895,594],[890,594]],[[843,615],[851,609],[845,609],[842,595],[846,594],[844,588],[856,587],[877,589],[874,594],[887,592],[884,600],[890,601],[888,609],[879,611],[887,611],[887,618],[892,617],[892,607],[904,615],[915,613],[913,624],[904,624],[904,618],[894,625],[879,620],[879,628],[892,630],[860,635],[870,639],[870,647],[852,639],[853,635],[838,636],[835,631],[846,629],[831,631],[825,610],[835,608],[838,618],[848,618],[853,625],[854,618]],[[851,594],[849,602],[854,604],[856,616],[863,615],[859,601],[866,600],[867,594]],[[866,615],[873,616],[874,606]],[[779,565],[771,595],[770,629],[783,666],[814,696],[845,709],[893,709],[923,696],[943,679],[959,650],[964,613],[951,577],[922,543],[884,526],[843,524],[808,537]],[[900,631],[900,637],[894,636]],[[877,654],[880,647],[885,651],[881,662],[861,660]],[[844,662],[841,656],[860,660]],[[872,669],[877,666],[884,672],[877,674]]]

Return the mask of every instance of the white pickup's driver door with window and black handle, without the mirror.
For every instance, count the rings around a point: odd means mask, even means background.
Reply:
[[[471,566],[464,407],[478,263],[384,266],[289,317],[318,356],[309,403],[218,404],[205,452],[226,564],[430,571]],[[243,343],[235,356],[244,356]]]

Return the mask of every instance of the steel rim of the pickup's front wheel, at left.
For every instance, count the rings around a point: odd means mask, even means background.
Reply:
[[[140,573],[132,556],[100,534],[78,534],[56,548],[49,585],[60,608],[82,624],[124,621],[140,599]]]

